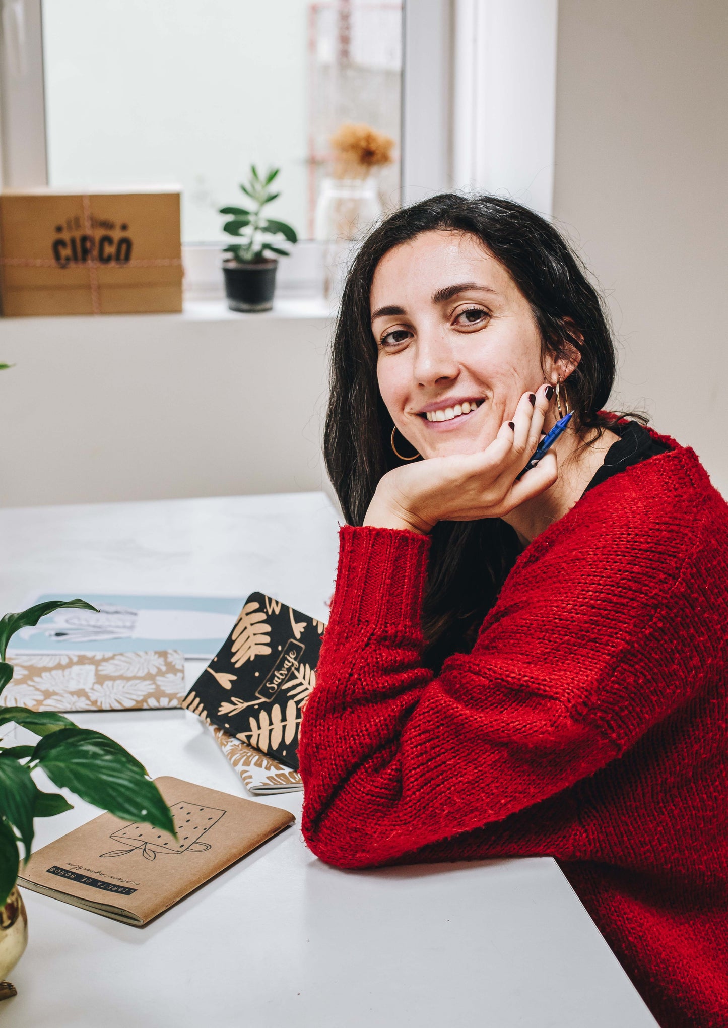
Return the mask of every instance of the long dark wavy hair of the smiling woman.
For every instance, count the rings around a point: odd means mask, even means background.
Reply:
[[[422,232],[478,238],[516,283],[541,333],[542,355],[580,361],[569,377],[577,433],[598,438],[614,383],[616,355],[602,299],[556,229],[529,208],[497,196],[441,193],[390,215],[364,241],[347,277],[331,352],[324,455],[341,510],[361,524],[381,476],[400,462],[390,446],[393,420],[379,395],[369,293],[374,271],[394,247]],[[596,430],[596,433],[590,430]],[[423,629],[437,669],[472,646],[477,629],[520,552],[500,518],[442,521],[432,531]]]

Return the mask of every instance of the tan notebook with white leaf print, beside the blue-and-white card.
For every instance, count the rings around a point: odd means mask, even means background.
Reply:
[[[159,710],[186,692],[179,650],[38,653],[13,657],[0,705],[30,710]]]

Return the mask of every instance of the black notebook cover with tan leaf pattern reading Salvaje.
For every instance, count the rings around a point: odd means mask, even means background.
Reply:
[[[252,592],[182,706],[297,771],[298,731],[323,631],[322,621]]]

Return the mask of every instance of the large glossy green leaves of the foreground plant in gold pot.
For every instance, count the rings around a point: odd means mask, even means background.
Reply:
[[[51,599],[0,618],[0,693],[12,678],[12,665],[5,660],[12,635],[62,607],[96,611],[83,599]],[[0,726],[9,722],[40,736],[40,741],[34,746],[0,746],[0,907],[17,879],[19,843],[24,864],[30,856],[34,818],[71,810],[60,793],[38,788],[33,779],[37,768],[59,788],[70,788],[86,803],[124,820],[153,824],[177,838],[172,814],[156,785],[139,761],[113,739],[78,728],[60,713],[0,705]]]

